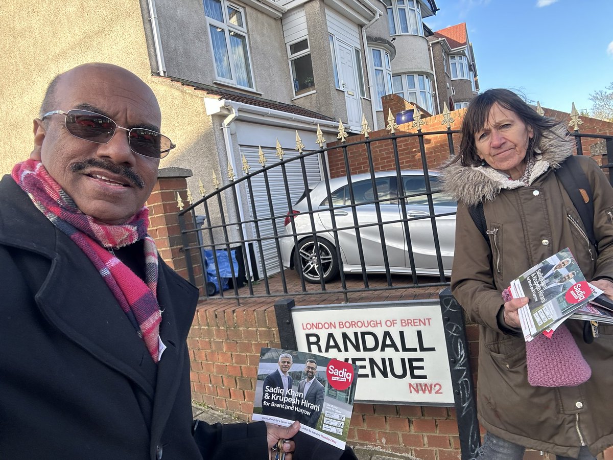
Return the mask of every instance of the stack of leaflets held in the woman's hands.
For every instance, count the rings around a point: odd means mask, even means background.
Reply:
[[[585,280],[569,248],[527,270],[511,282],[510,290],[515,299],[530,299],[518,310],[526,342],[541,332],[550,337],[566,318],[587,319],[574,315],[600,312],[602,317],[612,318],[613,310],[604,313],[601,307],[588,307],[589,302],[593,303],[598,296],[604,301],[607,299],[603,291]]]

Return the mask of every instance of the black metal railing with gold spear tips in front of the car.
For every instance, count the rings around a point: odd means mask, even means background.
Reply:
[[[221,182],[214,176],[214,190],[208,192],[202,186],[202,198],[179,214],[192,282],[191,261],[201,259],[202,249],[207,249],[213,250],[212,269],[217,278],[220,278],[218,257],[236,258],[241,262],[239,270],[230,264],[230,272],[226,274],[232,290],[219,293],[221,297],[237,301],[242,297],[338,293],[348,302],[349,294],[354,292],[449,285],[447,243],[440,231],[441,228],[448,230],[441,223],[454,217],[455,207],[445,201],[438,189],[435,168],[455,154],[459,131],[451,129],[453,121],[446,110],[443,113],[446,129],[422,132],[424,120],[416,110],[410,125],[415,131],[397,132],[398,125],[390,113],[387,131],[379,131],[377,137],[371,135],[364,120],[359,140],[347,142],[349,134],[340,123],[338,142],[326,147],[326,140],[318,129],[316,143],[320,150],[303,151],[304,145],[296,133],[295,155],[286,155],[280,146],[275,155],[270,152],[266,155],[260,148],[257,156],[249,155],[252,161],[243,155],[242,171],[233,171],[229,166]],[[611,166],[613,136],[583,134],[578,125],[571,134],[576,139],[577,155],[584,153],[582,140],[601,139],[606,147],[601,149],[601,167]],[[446,144],[446,155],[437,160],[438,163],[428,155],[435,142],[439,147],[441,143]],[[391,160],[382,163],[381,152],[387,152],[386,158]],[[309,177],[308,163],[315,158],[324,178],[319,185],[324,199],[313,202],[309,193],[312,176]],[[411,171],[406,170],[408,159],[413,160]],[[333,171],[332,164],[335,165]],[[367,172],[357,176],[354,174],[357,170]],[[414,175],[411,180],[415,177],[421,180],[422,185],[408,187],[408,174]],[[387,179],[382,180],[382,177]],[[299,214],[292,212],[297,199],[289,190],[289,183],[305,190]],[[368,189],[366,192],[360,188],[362,185]],[[256,197],[264,204],[256,203]],[[239,203],[245,206],[242,212],[237,212]],[[385,212],[389,205],[398,209],[398,217],[391,221],[382,217],[389,215]],[[258,212],[262,209],[265,212]],[[368,221],[362,216],[364,209],[371,212]],[[207,218],[204,226],[197,228],[196,217],[202,213]],[[247,217],[240,218],[240,215]],[[402,234],[402,247],[396,240],[392,241],[392,226]],[[197,239],[189,237],[191,232],[201,232],[202,244],[194,243]],[[419,266],[423,255],[420,251],[424,251],[421,243],[424,232],[432,241],[432,247],[427,250],[428,269]],[[349,248],[341,247],[347,235],[354,244]],[[369,252],[364,251],[373,239],[378,239],[381,246],[378,258],[383,263],[378,266],[369,264]],[[396,255],[398,250],[406,253],[405,267],[392,271],[390,253]],[[343,261],[348,259],[348,251],[357,260],[351,270],[358,272],[357,275],[345,273],[347,267]],[[294,270],[283,269],[284,266],[293,266]],[[335,269],[334,279],[327,278],[326,270],[330,266]]]

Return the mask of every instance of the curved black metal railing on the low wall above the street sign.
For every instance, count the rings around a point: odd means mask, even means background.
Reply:
[[[441,193],[436,184],[438,181],[433,180],[438,179],[437,173],[433,170],[435,166],[440,166],[444,159],[454,155],[454,141],[457,145],[458,134],[459,131],[453,131],[448,127],[446,130],[436,132],[418,131],[408,134],[392,133],[385,137],[368,137],[359,142],[341,142],[309,152],[302,151],[299,145],[297,147],[299,153],[294,156],[285,154],[277,148],[276,153],[280,159],[273,164],[272,162],[268,164],[265,153],[260,150],[259,163],[262,166],[257,170],[256,167],[250,166],[243,156],[242,177],[237,178],[229,167],[227,180],[224,181],[226,183],[220,184],[214,178],[215,190],[211,193],[201,191],[202,199],[179,214],[183,246],[192,282],[194,282],[192,263],[199,261],[205,272],[208,264],[209,282],[216,278],[217,295],[237,300],[246,297],[338,293],[345,297],[345,302],[348,302],[349,294],[367,290],[449,285],[448,275],[451,267],[444,266],[439,224],[442,218],[454,215],[455,210],[436,204]],[[608,169],[613,166],[613,136],[582,134],[578,131],[571,134],[576,139],[578,155],[584,154],[582,140],[603,139],[606,148],[601,150],[606,153],[601,156],[601,167]],[[426,147],[427,144],[432,144],[434,136],[438,136],[440,141],[438,146],[446,145],[447,148],[445,158],[439,156],[436,161],[428,158],[431,149]],[[382,164],[379,161],[382,150],[390,154],[386,156],[392,159],[390,163]],[[414,161],[416,156],[419,157],[417,164]],[[318,159],[321,177],[309,177],[306,164],[314,158]],[[409,163],[409,159],[413,159],[412,164]],[[335,177],[346,177],[346,196],[342,204],[332,200],[333,193],[338,190],[338,183],[335,182],[335,178],[330,178],[330,164],[334,165]],[[409,164],[410,168],[407,167]],[[352,174],[357,167],[368,171],[365,174],[367,182],[371,185],[371,198],[356,196],[357,180],[352,178]],[[405,190],[403,177],[406,170],[415,168],[421,168],[424,187],[417,191]],[[249,172],[251,170],[256,171]],[[392,190],[385,196],[379,193],[378,178],[381,174],[379,171],[382,170],[390,171],[387,176],[390,177],[390,183],[396,185],[395,193],[392,193],[394,192]],[[275,178],[271,183],[270,176],[273,172]],[[296,177],[299,179],[296,180]],[[314,180],[322,181],[320,188],[325,188],[327,200],[313,202],[313,197],[308,191]],[[262,187],[266,197],[256,202],[254,198],[256,190],[262,190]],[[302,196],[299,213],[301,224],[297,226],[291,211],[300,196]],[[424,212],[421,215],[409,214],[407,204],[419,197]],[[399,209],[398,217],[392,220],[386,220],[382,213],[382,208],[389,204],[395,204]],[[365,222],[364,218],[360,217],[359,211],[362,209],[360,207],[364,205],[370,206],[370,209],[374,207],[376,220]],[[337,215],[341,213],[348,217],[346,220],[349,220],[349,224],[345,222],[339,226]],[[203,220],[199,216],[203,214],[204,224],[198,226],[197,222]],[[329,220],[329,225],[321,224],[323,218]],[[188,224],[188,220],[191,220],[191,224]],[[412,234],[417,224],[427,228],[428,233],[432,235],[432,247],[428,250],[435,259],[435,267],[428,272],[427,277],[415,268],[418,263],[416,263]],[[405,239],[404,249],[392,249],[394,255],[398,250],[406,252],[406,268],[400,275],[398,270],[390,269],[390,250],[386,245],[388,234],[386,229],[390,226],[402,228]],[[372,267],[369,267],[372,265],[369,264],[369,259],[373,256],[373,251],[365,253],[364,250],[364,234],[370,229],[376,229],[375,233],[381,242],[380,254],[376,256],[383,263],[374,270],[376,274],[373,274]],[[198,239],[193,235],[190,236],[194,232],[199,234]],[[372,236],[372,232],[368,234]],[[351,247],[343,247],[343,238],[347,235],[355,241]],[[311,243],[309,251],[312,251],[309,253],[311,259],[307,266],[302,262],[295,263],[304,256],[297,256],[295,251],[305,240]],[[208,258],[203,256],[203,250],[209,251]],[[344,270],[343,259],[347,251],[357,253],[359,264],[354,264],[357,275],[347,274]],[[338,274],[335,279],[327,280],[325,269],[327,264],[332,262],[337,264]],[[287,266],[294,267],[294,270],[287,270],[285,268]],[[319,269],[319,275],[313,277],[313,272],[306,274],[303,272],[305,267],[310,270],[315,269],[315,273],[318,273]],[[307,282],[309,279],[311,282]],[[223,287],[220,287],[223,285],[223,280],[227,280],[229,291],[224,291]],[[212,294],[213,286],[207,295]]]

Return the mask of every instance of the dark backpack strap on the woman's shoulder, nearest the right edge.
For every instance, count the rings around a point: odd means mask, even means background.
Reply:
[[[555,169],[564,190],[573,201],[573,205],[581,217],[587,237],[596,248],[598,253],[598,243],[594,234],[594,203],[592,201],[592,186],[587,180],[587,176],[581,169],[577,158],[574,155],[566,158],[558,169]]]

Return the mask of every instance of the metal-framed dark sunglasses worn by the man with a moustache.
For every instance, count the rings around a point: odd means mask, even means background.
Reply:
[[[72,136],[96,142],[96,144],[108,144],[118,128],[128,131],[131,150],[147,158],[164,158],[172,148],[177,147],[164,134],[145,128],[123,128],[109,117],[88,110],[75,109],[68,112],[53,110],[53,112],[45,113],[42,120],[56,114],[66,117],[64,125]]]

